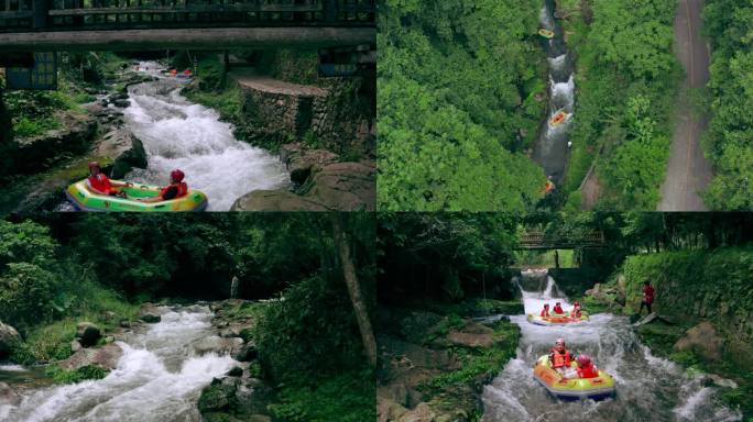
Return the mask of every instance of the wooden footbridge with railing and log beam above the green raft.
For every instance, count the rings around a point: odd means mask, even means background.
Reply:
[[[0,0],[0,52],[374,44],[375,0]]]

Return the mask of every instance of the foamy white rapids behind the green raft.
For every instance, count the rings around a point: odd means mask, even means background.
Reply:
[[[141,66],[160,75],[155,63]],[[207,193],[209,211],[228,211],[245,193],[288,185],[288,174],[276,156],[236,140],[232,125],[220,122],[216,111],[179,95],[184,85],[160,77],[130,87],[126,124],[143,142],[149,165],[131,171],[128,180],[165,186],[170,171],[179,168],[189,188]]]

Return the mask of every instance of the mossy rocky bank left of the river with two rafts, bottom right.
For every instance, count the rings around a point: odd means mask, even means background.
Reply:
[[[380,422],[478,420],[483,412],[483,386],[515,355],[520,330],[504,318],[478,321],[470,316],[522,312],[520,302],[481,303],[432,306],[430,310],[380,308]]]

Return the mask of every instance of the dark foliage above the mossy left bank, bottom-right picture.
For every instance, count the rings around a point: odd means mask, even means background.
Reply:
[[[505,213],[383,213],[379,254],[386,275],[380,289],[395,300],[411,297],[459,301],[504,296],[513,262],[516,216]],[[407,293],[407,295],[406,295]]]

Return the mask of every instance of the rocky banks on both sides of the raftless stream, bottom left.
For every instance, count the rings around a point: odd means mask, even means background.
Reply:
[[[197,406],[205,421],[254,421],[270,422],[268,404],[274,401],[274,390],[260,379],[257,349],[252,330],[264,308],[263,302],[225,300],[209,303],[212,311],[211,327],[216,335],[196,338],[185,346],[190,356],[207,354],[229,355],[237,364],[223,376],[212,379],[198,399]],[[190,308],[190,307],[189,307]],[[116,369],[124,354],[121,344],[130,344],[133,338],[150,330],[150,325],[162,321],[168,312],[186,309],[183,306],[156,306],[144,303],[134,319],[120,319],[110,312],[112,319],[107,330],[101,325],[81,321],[76,324],[69,355],[56,362],[26,362],[25,365],[46,365],[45,374],[55,382],[78,382],[84,379],[99,379]],[[174,314],[174,313],[171,313]],[[119,320],[119,321],[116,321]],[[122,342],[122,343],[119,343]],[[0,324],[0,359],[13,355],[12,349],[22,347],[23,340],[9,325]],[[62,352],[61,352],[62,353]],[[0,406],[18,406],[30,388],[39,388],[48,382],[0,382]]]

